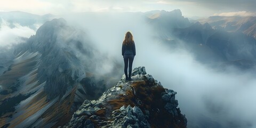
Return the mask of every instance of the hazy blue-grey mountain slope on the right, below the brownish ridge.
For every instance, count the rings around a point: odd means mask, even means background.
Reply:
[[[233,66],[243,69],[251,69],[255,66],[256,39],[241,31],[213,29],[207,22],[204,24],[196,22],[185,28],[162,28],[165,30],[158,32],[158,35],[166,35],[162,37],[162,42],[170,46],[170,49],[185,48],[202,63],[214,67],[223,66],[225,63],[234,64]],[[239,66],[236,60],[246,60],[240,61],[246,63]]]

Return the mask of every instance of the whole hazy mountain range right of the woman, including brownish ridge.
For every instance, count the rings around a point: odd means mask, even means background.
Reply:
[[[170,49],[185,47],[197,60],[214,67],[226,63],[250,69],[256,65],[256,39],[251,36],[254,34],[254,17],[210,17],[190,23],[178,10],[172,12],[172,17],[164,12],[163,20],[159,20],[161,12],[158,13],[155,13],[157,17],[149,18],[149,24],[157,31],[157,38]],[[236,60],[250,63],[235,64]]]

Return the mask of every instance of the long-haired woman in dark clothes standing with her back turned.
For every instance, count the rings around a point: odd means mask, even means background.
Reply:
[[[124,37],[123,45],[122,45],[122,55],[124,58],[124,74],[125,80],[131,81],[131,74],[132,74],[132,62],[134,56],[136,55],[135,52],[135,44],[133,41],[133,36],[130,31],[127,31]],[[127,68],[129,62],[129,77],[127,75]]]

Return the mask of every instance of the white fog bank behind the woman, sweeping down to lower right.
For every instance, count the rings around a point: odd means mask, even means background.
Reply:
[[[126,31],[131,31],[137,50],[133,68],[145,66],[147,73],[165,88],[178,92],[178,107],[188,118],[188,127],[255,127],[253,73],[231,66],[225,71],[212,69],[196,61],[182,46],[170,49],[153,38],[155,31],[140,13],[81,13],[62,17],[85,31],[101,53],[122,65],[122,41]],[[105,65],[108,70],[115,68],[111,61]]]

